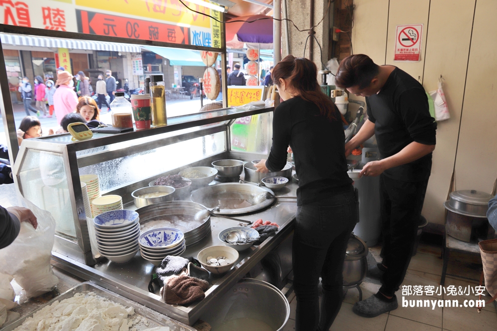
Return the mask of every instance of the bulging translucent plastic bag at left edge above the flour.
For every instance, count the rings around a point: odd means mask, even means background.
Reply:
[[[55,239],[55,219],[22,198],[14,184],[2,185],[0,205],[29,208],[38,220],[35,230],[29,222],[21,222],[17,238],[0,250],[0,272],[11,275],[23,288],[19,302],[51,291],[59,282],[53,273],[50,259]]]

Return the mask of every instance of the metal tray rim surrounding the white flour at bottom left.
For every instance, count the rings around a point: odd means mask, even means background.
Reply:
[[[103,298],[109,299],[112,302],[121,304],[125,307],[133,307],[135,309],[135,315],[133,316],[140,316],[140,317],[145,317],[149,325],[137,325],[134,326],[137,328],[138,331],[142,331],[145,329],[149,328],[154,328],[154,327],[169,327],[171,331],[196,331],[196,329],[189,327],[185,324],[182,324],[178,321],[171,320],[168,318],[166,315],[160,314],[150,308],[147,308],[145,306],[140,305],[137,302],[134,302],[132,300],[126,299],[123,296],[120,296],[117,293],[111,292],[109,290],[106,290],[98,285],[95,285],[90,282],[84,282],[79,284],[78,286],[73,287],[72,289],[66,291],[65,293],[62,293],[58,297],[50,300],[43,306],[39,307],[38,309],[34,310],[31,312],[29,315],[26,315],[17,321],[12,322],[6,327],[3,327],[1,330],[2,331],[12,331],[18,326],[20,326],[27,318],[32,317],[34,313],[38,312],[39,310],[43,309],[46,306],[50,306],[53,304],[55,301],[62,301],[67,298],[72,298],[76,293],[89,293],[89,292],[94,292],[96,295],[101,296]]]

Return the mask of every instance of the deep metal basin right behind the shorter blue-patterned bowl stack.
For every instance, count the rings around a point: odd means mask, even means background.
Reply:
[[[203,205],[191,201],[169,201],[139,208],[136,211],[140,215],[142,232],[172,227],[183,232],[186,246],[189,246],[199,242],[211,232],[210,216],[200,222],[193,220],[195,213],[204,209]]]

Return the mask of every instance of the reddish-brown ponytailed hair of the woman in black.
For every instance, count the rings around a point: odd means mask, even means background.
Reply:
[[[273,82],[280,85],[280,78],[289,82],[289,88],[299,96],[318,106],[322,116],[330,121],[337,119],[336,109],[318,84],[318,68],[311,60],[286,56],[273,68]]]

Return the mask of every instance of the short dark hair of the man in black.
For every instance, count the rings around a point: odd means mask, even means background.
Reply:
[[[356,54],[346,57],[338,66],[335,76],[335,84],[341,88],[359,86],[366,88],[371,84],[380,67],[367,55]]]

